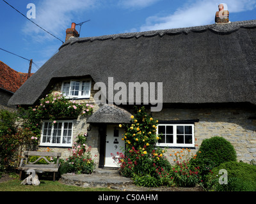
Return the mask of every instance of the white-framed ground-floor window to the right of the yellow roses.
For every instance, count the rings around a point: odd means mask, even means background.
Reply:
[[[163,147],[195,147],[194,124],[158,124],[157,145]]]

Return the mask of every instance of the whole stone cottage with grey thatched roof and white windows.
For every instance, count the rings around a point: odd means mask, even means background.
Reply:
[[[99,167],[116,165],[111,153],[124,147],[118,124],[129,122],[137,102],[159,120],[163,137],[157,145],[167,148],[166,156],[186,147],[196,152],[205,138],[222,136],[234,145],[238,160],[256,159],[256,20],[77,36],[73,24],[59,52],[15,92],[10,105],[35,105],[51,90],[93,105],[90,117],[58,122],[67,124],[73,140],[88,133]],[[106,85],[99,98],[106,104],[95,103],[99,85]],[[45,143],[43,137],[44,131],[40,149],[51,147],[67,156],[72,140],[62,145]]]

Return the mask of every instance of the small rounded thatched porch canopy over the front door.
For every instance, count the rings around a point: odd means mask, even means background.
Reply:
[[[103,105],[88,119],[89,123],[129,123],[131,113],[115,105]]]

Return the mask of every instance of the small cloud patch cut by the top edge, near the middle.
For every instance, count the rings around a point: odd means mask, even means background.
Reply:
[[[159,0],[120,0],[119,5],[124,8],[145,8]]]

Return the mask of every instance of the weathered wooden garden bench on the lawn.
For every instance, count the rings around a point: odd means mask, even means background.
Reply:
[[[20,180],[22,179],[22,171],[35,170],[36,173],[44,173],[44,172],[53,172],[53,181],[55,181],[55,174],[58,173],[58,169],[60,167],[59,160],[61,156],[61,152],[36,152],[36,151],[27,151],[24,152],[24,158],[20,161],[20,166],[18,170],[20,170]],[[34,162],[29,162],[29,156],[39,156],[38,159]],[[56,163],[48,161],[45,157],[57,157]],[[48,164],[36,164],[40,159],[44,159]]]

